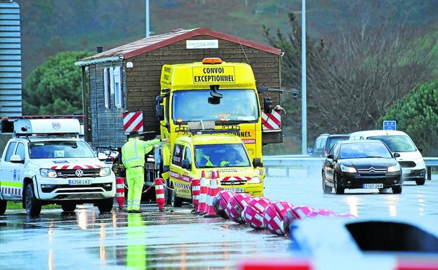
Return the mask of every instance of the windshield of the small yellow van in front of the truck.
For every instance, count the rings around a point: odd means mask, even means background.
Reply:
[[[197,168],[249,167],[243,144],[202,144],[194,146]]]

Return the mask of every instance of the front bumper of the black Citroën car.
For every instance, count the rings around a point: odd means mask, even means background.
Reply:
[[[385,176],[360,176],[357,173],[341,173],[340,187],[345,189],[363,189],[364,184],[383,184],[383,188],[397,187],[403,184],[401,173],[387,173]]]

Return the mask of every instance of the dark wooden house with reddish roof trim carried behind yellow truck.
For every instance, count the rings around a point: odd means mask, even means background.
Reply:
[[[248,62],[258,86],[280,88],[278,48],[206,28],[176,29],[75,63],[82,67],[86,140],[93,147],[121,147],[126,142],[127,124],[142,124],[146,138],[159,135],[154,112],[155,99],[160,93],[161,67],[213,57],[225,62]],[[273,104],[280,104],[280,93],[267,95],[272,97]],[[133,123],[125,123],[124,130],[126,112],[142,112],[142,115]],[[282,142],[282,135],[271,133],[263,136],[263,141]]]

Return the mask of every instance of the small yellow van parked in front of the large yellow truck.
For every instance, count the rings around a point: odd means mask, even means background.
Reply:
[[[232,134],[201,134],[177,137],[170,166],[168,202],[180,206],[192,200],[192,180],[219,172],[222,189],[263,196],[263,177],[251,162],[245,144]],[[256,163],[255,166],[253,163]],[[174,190],[173,190],[174,189]]]

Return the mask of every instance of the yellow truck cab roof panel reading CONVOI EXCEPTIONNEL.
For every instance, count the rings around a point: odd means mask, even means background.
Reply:
[[[209,89],[211,85],[220,85],[220,89],[255,89],[253,70],[246,63],[222,60],[216,64],[164,65],[161,69],[161,89]]]

